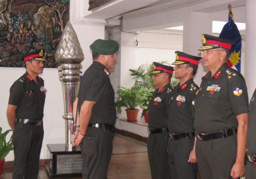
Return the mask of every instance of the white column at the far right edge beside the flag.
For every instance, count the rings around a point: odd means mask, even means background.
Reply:
[[[256,71],[256,24],[255,24],[255,0],[246,0],[246,38],[245,39],[245,81],[248,90],[249,99],[253,94],[256,87],[255,84],[255,71]]]

